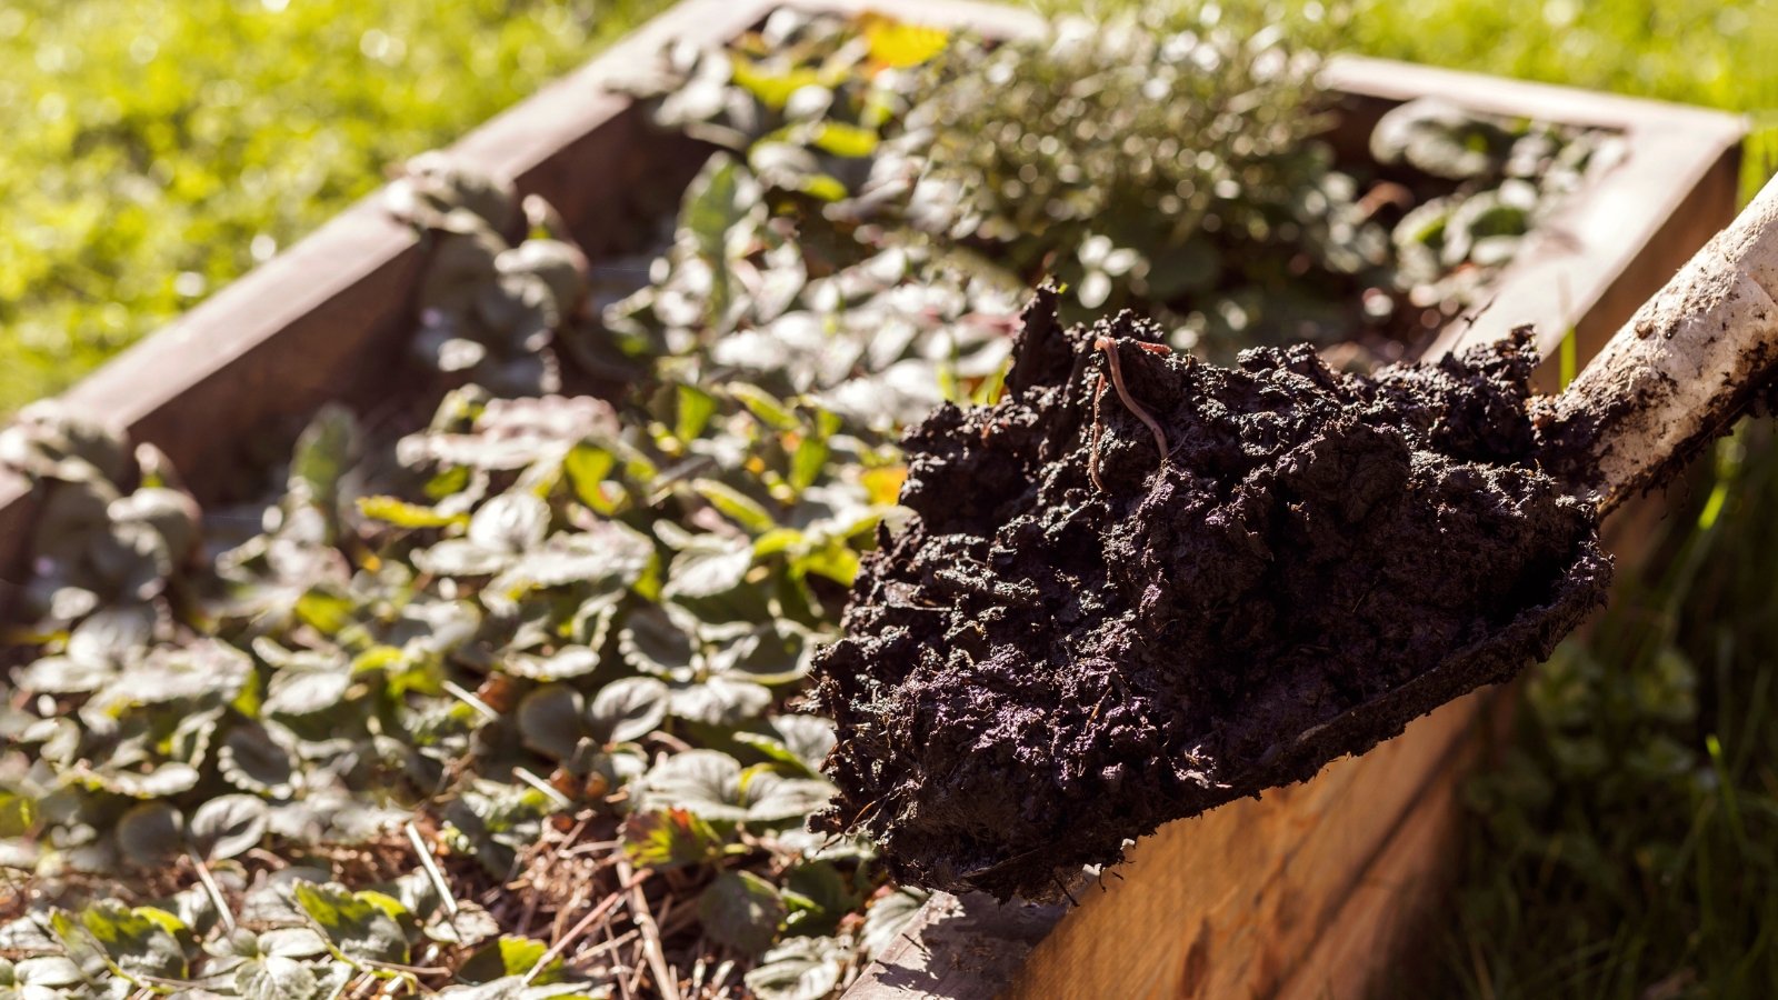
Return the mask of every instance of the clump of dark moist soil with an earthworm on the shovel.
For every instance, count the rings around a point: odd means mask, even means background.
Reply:
[[[1355,377],[1053,310],[1003,402],[909,434],[917,516],[818,664],[841,738],[816,826],[869,831],[898,879],[1053,895],[1506,680],[1604,601],[1593,514],[1536,470],[1527,338]]]

